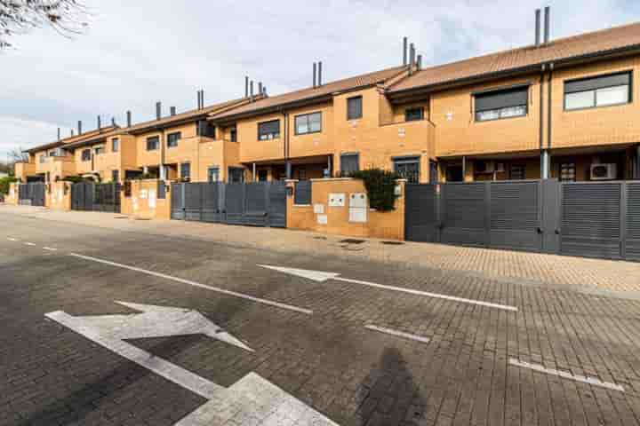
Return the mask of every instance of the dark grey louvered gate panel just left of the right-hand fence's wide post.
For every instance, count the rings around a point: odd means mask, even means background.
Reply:
[[[492,182],[490,200],[490,247],[542,248],[539,181]]]

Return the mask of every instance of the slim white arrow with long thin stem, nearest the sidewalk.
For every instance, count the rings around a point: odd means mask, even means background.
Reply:
[[[414,290],[412,288],[403,288],[403,287],[395,287],[395,286],[387,286],[384,284],[376,284],[375,282],[370,281],[362,281],[362,280],[351,280],[348,278],[340,277],[339,273],[335,272],[321,272],[321,271],[307,271],[305,269],[295,269],[295,268],[284,268],[281,266],[270,266],[268,264],[259,264],[263,268],[273,269],[275,271],[289,273],[292,275],[297,275],[302,278],[308,278],[309,280],[315,280],[317,282],[324,282],[326,280],[339,280],[343,282],[350,282],[353,284],[361,284],[363,286],[373,287],[373,288],[383,288],[385,290],[398,291],[401,293],[408,293],[410,295],[417,296],[427,296],[427,297],[436,297],[438,299],[451,300],[453,302],[460,302],[463,304],[477,304],[480,306],[487,306],[489,308],[501,309],[504,311],[517,312],[516,306],[509,306],[507,304],[492,304],[490,302],[483,302],[481,300],[473,300],[473,299],[465,299],[463,297],[456,296],[447,296],[440,295],[437,293],[429,293],[428,291],[420,291]]]

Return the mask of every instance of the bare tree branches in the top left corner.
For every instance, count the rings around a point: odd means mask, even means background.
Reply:
[[[45,26],[60,35],[81,34],[88,13],[79,0],[0,0],[0,50],[12,46],[9,38]]]

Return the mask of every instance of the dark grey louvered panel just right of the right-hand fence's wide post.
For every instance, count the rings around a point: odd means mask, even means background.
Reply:
[[[562,184],[562,254],[620,258],[620,186]]]

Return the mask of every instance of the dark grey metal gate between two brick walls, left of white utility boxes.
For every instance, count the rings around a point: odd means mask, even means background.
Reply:
[[[229,225],[286,226],[284,182],[172,185],[172,219]]]

